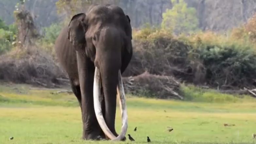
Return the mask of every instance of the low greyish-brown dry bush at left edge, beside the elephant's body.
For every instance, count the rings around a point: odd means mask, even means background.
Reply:
[[[60,84],[57,78],[65,77],[52,57],[36,47],[16,49],[0,57],[0,79],[3,81],[57,87]]]

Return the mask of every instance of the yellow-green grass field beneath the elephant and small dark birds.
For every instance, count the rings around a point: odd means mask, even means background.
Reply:
[[[113,143],[81,139],[81,112],[72,94],[29,88],[0,86],[0,144]],[[147,143],[149,136],[156,144],[256,144],[252,138],[256,133],[256,100],[252,98],[202,103],[126,97],[127,134],[136,141],[117,143]],[[120,131],[119,109],[116,120]],[[225,127],[224,123],[235,126]],[[168,132],[167,126],[174,130]],[[14,139],[9,140],[10,136]]]

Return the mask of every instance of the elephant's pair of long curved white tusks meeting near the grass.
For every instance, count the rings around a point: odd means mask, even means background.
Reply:
[[[128,127],[128,118],[127,118],[127,109],[126,109],[126,103],[125,103],[125,94],[122,84],[122,77],[121,72],[119,70],[118,72],[118,86],[117,86],[117,94],[119,98],[119,105],[120,105],[120,111],[122,116],[122,128],[121,133],[119,136],[115,136],[107,127],[107,124],[103,118],[102,109],[101,109],[101,103],[99,100],[100,96],[100,84],[101,84],[101,77],[100,77],[100,71],[97,67],[95,67],[95,73],[94,73],[94,83],[93,83],[93,103],[94,103],[94,110],[96,114],[96,118],[99,122],[99,125],[106,136],[108,136],[111,140],[120,141],[124,138],[127,127]]]

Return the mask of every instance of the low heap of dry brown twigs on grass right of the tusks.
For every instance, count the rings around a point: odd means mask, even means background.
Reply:
[[[134,77],[123,78],[125,91],[135,95],[160,99],[183,99],[180,83],[172,76],[160,76],[144,72]]]

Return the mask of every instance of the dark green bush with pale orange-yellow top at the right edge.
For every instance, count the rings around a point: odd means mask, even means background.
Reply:
[[[198,33],[187,38],[193,46],[189,58],[191,61],[200,60],[207,84],[223,88],[255,85],[254,44],[213,32]]]

